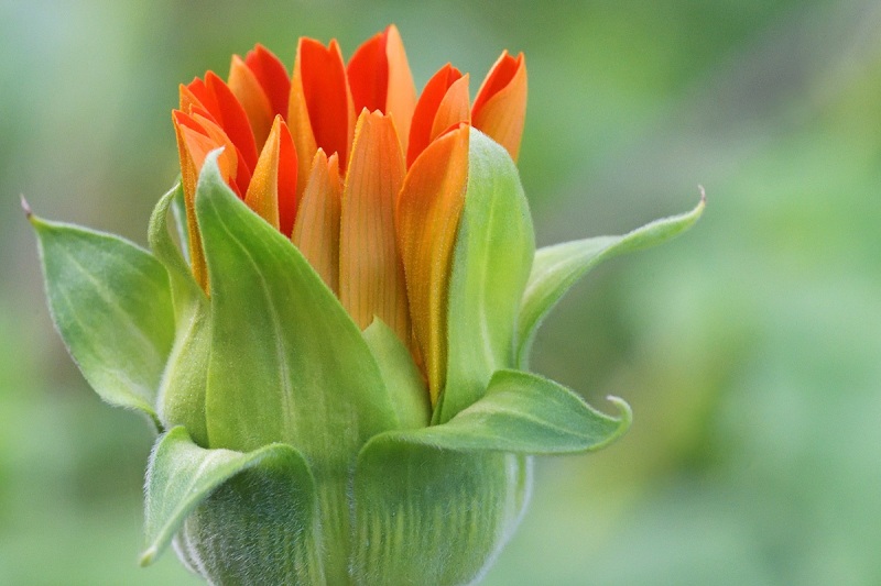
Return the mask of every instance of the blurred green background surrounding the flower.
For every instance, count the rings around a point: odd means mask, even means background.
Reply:
[[[177,85],[254,43],[348,54],[395,22],[417,86],[524,51],[541,244],[689,209],[541,330],[533,366],[633,429],[541,460],[489,585],[881,584],[881,4],[0,0],[0,584],[197,584],[137,567],[152,438],[53,331],[19,195],[145,242]]]

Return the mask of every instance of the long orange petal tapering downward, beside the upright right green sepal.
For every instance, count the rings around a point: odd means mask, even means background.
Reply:
[[[395,207],[410,316],[432,405],[446,377],[447,297],[468,179],[468,126],[434,141],[407,172]]]

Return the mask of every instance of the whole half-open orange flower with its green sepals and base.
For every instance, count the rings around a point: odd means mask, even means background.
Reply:
[[[303,38],[289,75],[258,45],[180,90],[181,180],[150,251],[26,210],[72,356],[159,433],[142,562],[174,544],[213,584],[476,582],[523,515],[532,455],[630,423],[620,399],[607,416],[529,372],[536,329],[703,201],[536,251],[523,55],[474,100],[452,65],[417,93],[394,26],[348,63]]]

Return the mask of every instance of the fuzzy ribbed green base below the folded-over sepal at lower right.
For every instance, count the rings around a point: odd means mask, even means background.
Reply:
[[[476,583],[522,517],[527,457],[368,444],[355,475],[352,583]]]

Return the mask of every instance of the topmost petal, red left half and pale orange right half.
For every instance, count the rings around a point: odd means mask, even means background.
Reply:
[[[389,25],[355,52],[346,73],[355,111],[380,110],[394,118],[404,151],[416,107],[416,87],[398,27]]]

